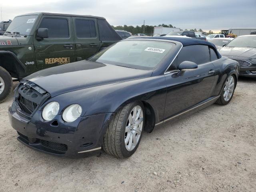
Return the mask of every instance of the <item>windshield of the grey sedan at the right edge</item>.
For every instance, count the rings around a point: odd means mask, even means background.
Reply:
[[[251,37],[237,37],[230,41],[226,47],[255,47],[256,48],[256,36]]]

